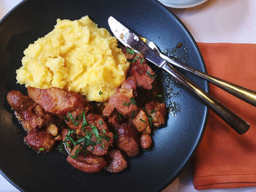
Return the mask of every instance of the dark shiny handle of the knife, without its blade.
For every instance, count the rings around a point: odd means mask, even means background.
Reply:
[[[214,99],[214,97],[212,97],[210,94],[203,91],[201,88],[195,85],[194,82],[173,68],[173,66],[165,62],[165,64],[162,65],[162,69],[165,69],[165,71],[171,74],[176,80],[181,82],[182,85],[192,91],[192,93],[195,93],[199,99],[201,99],[208,107],[211,108],[211,110],[219,115],[222,120],[225,120],[225,122],[235,129],[238,134],[244,134],[248,130],[249,123],[238,117],[238,115],[230,111],[227,107],[217,101],[217,99]]]

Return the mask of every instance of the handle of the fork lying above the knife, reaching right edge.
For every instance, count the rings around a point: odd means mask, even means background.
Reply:
[[[238,97],[239,99],[242,99],[246,101],[249,104],[252,104],[256,107],[256,91],[249,90],[247,88],[243,88],[239,85],[233,84],[231,82],[227,82],[225,80],[221,80],[217,77],[211,76],[209,74],[206,74],[204,72],[200,72],[197,69],[192,68],[191,66],[187,66],[185,64],[182,64],[178,61],[176,61],[173,58],[167,57],[166,55],[160,53],[160,57],[168,61],[170,64],[173,64],[174,66],[178,66],[181,69],[185,69],[188,72],[192,72],[192,74],[196,74],[199,77],[202,77],[204,80],[207,80],[208,82],[211,82],[214,85],[217,85],[219,88],[222,88],[223,90],[227,91],[228,93],[232,94],[233,96]]]

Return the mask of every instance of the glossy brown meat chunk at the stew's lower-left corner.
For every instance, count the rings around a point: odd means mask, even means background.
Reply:
[[[50,152],[56,142],[45,128],[33,128],[24,140],[31,148],[41,152]]]

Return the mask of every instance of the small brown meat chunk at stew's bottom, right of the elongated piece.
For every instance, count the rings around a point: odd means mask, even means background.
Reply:
[[[105,166],[106,171],[111,173],[121,172],[127,168],[127,161],[121,154],[120,150],[111,149],[108,151],[105,160],[107,161],[107,166]]]

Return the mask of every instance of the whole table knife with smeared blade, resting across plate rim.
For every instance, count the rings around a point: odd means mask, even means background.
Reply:
[[[166,72],[171,74],[176,80],[181,82],[186,88],[188,88],[192,93],[201,99],[208,107],[211,108],[214,112],[219,115],[222,120],[225,120],[227,124],[229,124],[238,134],[244,134],[248,128],[249,123],[240,118],[234,112],[229,110],[223,104],[221,104],[217,99],[214,99],[210,94],[203,91],[194,82],[189,80],[183,74],[178,72],[173,66],[167,63],[164,59],[162,59],[154,50],[151,50],[148,45],[146,45],[138,35],[133,33],[129,28],[124,26],[118,20],[110,16],[108,18],[108,25],[110,26],[111,31],[115,35],[115,37],[125,46],[133,48],[138,53],[142,53],[144,57],[150,61],[152,64],[159,66],[162,69],[165,69]]]

